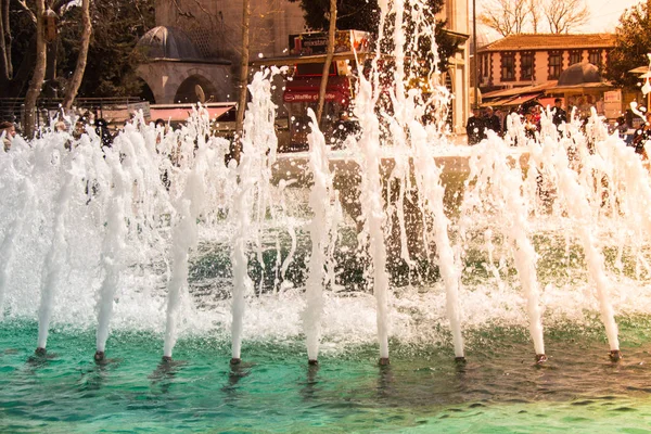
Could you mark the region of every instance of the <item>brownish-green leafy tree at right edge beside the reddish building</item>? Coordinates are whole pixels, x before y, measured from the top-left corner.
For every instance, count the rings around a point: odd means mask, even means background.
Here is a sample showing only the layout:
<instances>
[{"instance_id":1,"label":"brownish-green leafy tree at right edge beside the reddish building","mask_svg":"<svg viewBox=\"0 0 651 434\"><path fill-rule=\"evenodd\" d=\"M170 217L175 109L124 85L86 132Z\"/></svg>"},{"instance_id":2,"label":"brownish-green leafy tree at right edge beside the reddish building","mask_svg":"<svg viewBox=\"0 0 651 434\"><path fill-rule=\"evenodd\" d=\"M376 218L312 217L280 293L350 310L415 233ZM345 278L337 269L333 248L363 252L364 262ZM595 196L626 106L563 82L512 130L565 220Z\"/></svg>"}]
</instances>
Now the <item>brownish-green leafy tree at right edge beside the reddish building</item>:
<instances>
[{"instance_id":1,"label":"brownish-green leafy tree at right edge beside the reddish building","mask_svg":"<svg viewBox=\"0 0 651 434\"><path fill-rule=\"evenodd\" d=\"M651 21L647 4L639 3L624 12L615 33L615 48L609 54L607 77L616 85L636 89L640 79L629 71L649 64Z\"/></svg>"}]
</instances>

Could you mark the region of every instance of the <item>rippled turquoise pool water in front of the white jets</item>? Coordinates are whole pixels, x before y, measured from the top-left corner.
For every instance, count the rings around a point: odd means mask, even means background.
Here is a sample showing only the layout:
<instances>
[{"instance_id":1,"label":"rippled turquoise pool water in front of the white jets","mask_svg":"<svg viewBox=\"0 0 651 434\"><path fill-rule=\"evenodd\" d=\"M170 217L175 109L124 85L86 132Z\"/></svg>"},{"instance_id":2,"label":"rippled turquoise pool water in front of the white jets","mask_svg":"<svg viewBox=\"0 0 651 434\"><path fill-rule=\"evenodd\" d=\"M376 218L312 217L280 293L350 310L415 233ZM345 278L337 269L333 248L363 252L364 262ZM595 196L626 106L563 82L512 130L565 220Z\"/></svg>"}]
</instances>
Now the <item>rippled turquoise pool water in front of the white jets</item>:
<instances>
[{"instance_id":1,"label":"rippled turquoise pool water in front of the white jets","mask_svg":"<svg viewBox=\"0 0 651 434\"><path fill-rule=\"evenodd\" d=\"M108 362L92 361L94 334L53 330L34 357L37 323L0 328L0 432L541 433L651 432L647 317L620 319L624 360L612 363L598 324L547 333L549 362L533 363L526 331L470 332L468 363L451 348L392 343L306 363L302 341L180 340L161 363L163 336L117 332Z\"/></svg>"}]
</instances>

